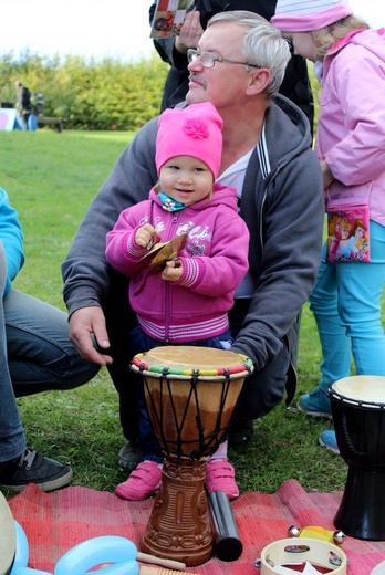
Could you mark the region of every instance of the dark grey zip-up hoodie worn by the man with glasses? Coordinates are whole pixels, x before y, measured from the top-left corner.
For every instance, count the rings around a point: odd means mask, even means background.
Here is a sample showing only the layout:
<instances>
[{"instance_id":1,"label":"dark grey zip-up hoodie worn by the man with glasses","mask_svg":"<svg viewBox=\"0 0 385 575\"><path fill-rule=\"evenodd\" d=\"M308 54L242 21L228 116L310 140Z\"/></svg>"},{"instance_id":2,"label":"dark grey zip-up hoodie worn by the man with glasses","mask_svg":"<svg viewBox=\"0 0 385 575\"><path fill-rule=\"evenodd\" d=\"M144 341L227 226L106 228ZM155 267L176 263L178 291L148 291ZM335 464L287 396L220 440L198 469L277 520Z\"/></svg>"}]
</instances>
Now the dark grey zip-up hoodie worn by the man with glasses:
<instances>
[{"instance_id":1,"label":"dark grey zip-up hoodie worn by the man with glasses","mask_svg":"<svg viewBox=\"0 0 385 575\"><path fill-rule=\"evenodd\" d=\"M104 255L105 234L121 211L146 199L157 181L156 126L157 118L138 132L85 213L62 266L70 314L90 305L104 307L107 301L111 269ZM288 342L295 344L296 318L320 265L323 187L310 145L306 117L278 96L267 109L241 199L256 291L232 349L253 360L257 384L258 372L274 362Z\"/></svg>"}]
</instances>

